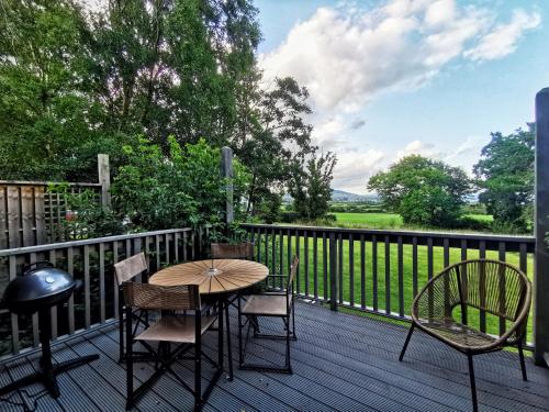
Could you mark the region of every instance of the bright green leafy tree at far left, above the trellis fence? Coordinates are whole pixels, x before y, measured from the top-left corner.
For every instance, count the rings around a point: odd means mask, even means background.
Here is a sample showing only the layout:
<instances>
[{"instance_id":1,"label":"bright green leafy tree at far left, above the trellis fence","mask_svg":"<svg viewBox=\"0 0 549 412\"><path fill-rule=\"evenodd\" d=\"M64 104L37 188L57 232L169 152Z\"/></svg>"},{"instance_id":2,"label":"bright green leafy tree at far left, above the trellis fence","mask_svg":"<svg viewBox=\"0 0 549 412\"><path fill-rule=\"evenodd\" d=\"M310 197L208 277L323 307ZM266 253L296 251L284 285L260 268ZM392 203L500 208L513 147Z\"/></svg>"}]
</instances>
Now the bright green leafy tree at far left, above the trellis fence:
<instances>
[{"instance_id":1,"label":"bright green leafy tree at far left, above the trellis fence","mask_svg":"<svg viewBox=\"0 0 549 412\"><path fill-rule=\"evenodd\" d=\"M81 10L67 0L3 0L0 33L2 178L78 174L77 147L97 141L101 114L89 94Z\"/></svg>"}]
</instances>

